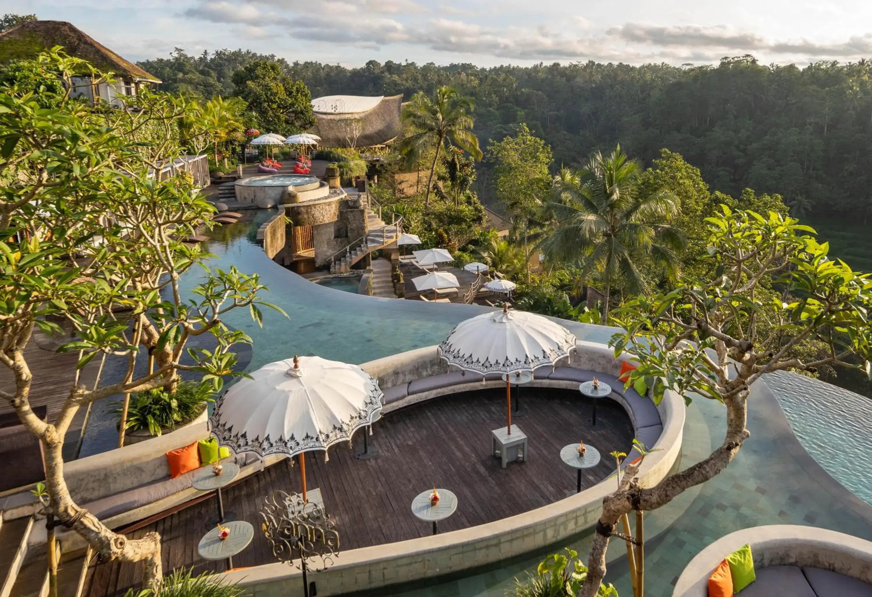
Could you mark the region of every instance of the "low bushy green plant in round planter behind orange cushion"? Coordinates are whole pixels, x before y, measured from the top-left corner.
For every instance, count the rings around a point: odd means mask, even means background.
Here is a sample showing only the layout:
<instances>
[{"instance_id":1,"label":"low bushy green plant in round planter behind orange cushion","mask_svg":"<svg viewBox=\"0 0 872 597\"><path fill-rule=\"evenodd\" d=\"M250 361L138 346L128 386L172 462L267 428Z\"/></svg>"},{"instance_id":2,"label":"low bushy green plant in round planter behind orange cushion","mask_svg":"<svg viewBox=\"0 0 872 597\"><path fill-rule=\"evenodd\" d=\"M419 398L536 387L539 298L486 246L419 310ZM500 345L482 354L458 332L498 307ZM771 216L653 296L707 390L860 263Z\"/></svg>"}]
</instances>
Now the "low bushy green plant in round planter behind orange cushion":
<instances>
[{"instance_id":1,"label":"low bushy green plant in round planter behind orange cushion","mask_svg":"<svg viewBox=\"0 0 872 597\"><path fill-rule=\"evenodd\" d=\"M174 393L164 388L155 388L133 394L127 410L126 431L147 429L152 435L160 435L162 429L173 429L190 423L199 417L206 402L213 402L212 387L206 383L181 382ZM112 412L121 422L123 401L116 403Z\"/></svg>"}]
</instances>

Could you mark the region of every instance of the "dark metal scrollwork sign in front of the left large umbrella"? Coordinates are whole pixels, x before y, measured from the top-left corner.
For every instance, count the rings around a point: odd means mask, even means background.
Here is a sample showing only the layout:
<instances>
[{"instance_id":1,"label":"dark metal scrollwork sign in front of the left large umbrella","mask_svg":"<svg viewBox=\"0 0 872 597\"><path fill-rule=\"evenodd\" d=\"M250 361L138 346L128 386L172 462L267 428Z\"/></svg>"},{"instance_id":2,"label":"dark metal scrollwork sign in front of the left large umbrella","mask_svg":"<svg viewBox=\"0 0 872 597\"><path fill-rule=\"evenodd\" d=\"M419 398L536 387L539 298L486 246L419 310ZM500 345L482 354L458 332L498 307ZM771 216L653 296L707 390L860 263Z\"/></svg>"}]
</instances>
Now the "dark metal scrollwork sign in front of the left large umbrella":
<instances>
[{"instance_id":1,"label":"dark metal scrollwork sign in front of the left large umbrella","mask_svg":"<svg viewBox=\"0 0 872 597\"><path fill-rule=\"evenodd\" d=\"M339 555L339 533L324 507L303 502L299 493L276 490L263 499L263 534L273 555L303 571L321 572ZM305 582L305 580L303 581Z\"/></svg>"}]
</instances>

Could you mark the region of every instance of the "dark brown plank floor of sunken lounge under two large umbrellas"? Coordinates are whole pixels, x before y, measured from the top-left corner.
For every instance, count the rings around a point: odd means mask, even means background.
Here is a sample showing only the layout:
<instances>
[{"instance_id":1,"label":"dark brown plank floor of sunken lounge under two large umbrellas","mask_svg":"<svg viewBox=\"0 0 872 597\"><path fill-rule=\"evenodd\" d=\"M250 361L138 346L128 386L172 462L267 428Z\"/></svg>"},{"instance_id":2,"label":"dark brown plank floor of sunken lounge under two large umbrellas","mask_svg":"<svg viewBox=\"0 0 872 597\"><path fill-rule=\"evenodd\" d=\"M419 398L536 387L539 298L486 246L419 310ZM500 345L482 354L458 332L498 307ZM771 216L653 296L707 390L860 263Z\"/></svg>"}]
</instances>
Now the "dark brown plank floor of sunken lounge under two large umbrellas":
<instances>
[{"instance_id":1,"label":"dark brown plank floor of sunken lounge under two large umbrellas","mask_svg":"<svg viewBox=\"0 0 872 597\"><path fill-rule=\"evenodd\" d=\"M514 393L514 392L513 392ZM566 498L576 488L576 471L564 465L561 448L583 438L603 453L603 461L582 471L585 487L610 475L610 451L630 451L633 431L623 409L610 400L599 404L596 427L591 405L578 392L521 389L522 417L513 417L529 438L529 462L502 469L489 454L490 431L505 425L504 390L481 390L435 398L385 415L374 425L370 446L378 458L358 460L362 438L353 450L341 445L306 458L310 490L319 487L327 512L337 523L343 550L373 546L431 533L428 523L412 516L412 499L433 485L458 496L457 512L439 523L440 532L476 526L527 512ZM234 557L235 566L275 561L259 530L258 509L273 490L300 490L299 468L284 460L224 490L227 512L255 526L251 545ZM195 573L223 570L223 562L201 560L197 543L215 513L208 499L133 531L157 531L163 537L164 571L193 566ZM103 563L92 566L86 594L122 595L140 583L141 567Z\"/></svg>"}]
</instances>

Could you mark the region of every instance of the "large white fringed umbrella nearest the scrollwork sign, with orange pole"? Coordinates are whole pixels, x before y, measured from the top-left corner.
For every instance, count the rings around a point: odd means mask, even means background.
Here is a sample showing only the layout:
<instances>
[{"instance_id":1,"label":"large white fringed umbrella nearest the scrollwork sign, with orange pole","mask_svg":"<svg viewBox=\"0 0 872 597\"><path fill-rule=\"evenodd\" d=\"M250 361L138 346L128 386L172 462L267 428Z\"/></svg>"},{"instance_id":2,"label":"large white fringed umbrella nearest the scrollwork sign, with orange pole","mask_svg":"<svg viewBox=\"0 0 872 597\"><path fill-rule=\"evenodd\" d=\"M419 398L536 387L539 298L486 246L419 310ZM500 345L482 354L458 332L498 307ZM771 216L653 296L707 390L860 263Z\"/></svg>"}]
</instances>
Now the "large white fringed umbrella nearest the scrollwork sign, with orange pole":
<instances>
[{"instance_id":1,"label":"large white fringed umbrella nearest the scrollwork sign, with orange pole","mask_svg":"<svg viewBox=\"0 0 872 597\"><path fill-rule=\"evenodd\" d=\"M305 452L351 441L378 419L383 397L375 378L357 365L295 356L235 383L215 403L209 423L218 443L236 453L299 454L306 501Z\"/></svg>"}]
</instances>

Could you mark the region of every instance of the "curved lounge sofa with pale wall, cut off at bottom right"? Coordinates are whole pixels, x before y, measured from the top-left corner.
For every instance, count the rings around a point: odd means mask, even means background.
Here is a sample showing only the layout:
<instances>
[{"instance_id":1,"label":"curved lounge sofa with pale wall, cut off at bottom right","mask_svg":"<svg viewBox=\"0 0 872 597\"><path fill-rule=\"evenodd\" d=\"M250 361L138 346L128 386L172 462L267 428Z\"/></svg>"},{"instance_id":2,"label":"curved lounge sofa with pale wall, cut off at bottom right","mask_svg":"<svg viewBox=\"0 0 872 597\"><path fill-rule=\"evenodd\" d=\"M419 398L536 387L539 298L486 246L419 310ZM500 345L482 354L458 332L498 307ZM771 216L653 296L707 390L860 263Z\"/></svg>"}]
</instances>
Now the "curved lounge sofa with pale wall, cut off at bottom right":
<instances>
[{"instance_id":1,"label":"curved lounge sofa with pale wall, cut off at bottom right","mask_svg":"<svg viewBox=\"0 0 872 597\"><path fill-rule=\"evenodd\" d=\"M751 545L757 580L743 597L869 597L872 542L814 526L754 526L718 539L678 577L672 597L706 597L728 554Z\"/></svg>"}]
</instances>

